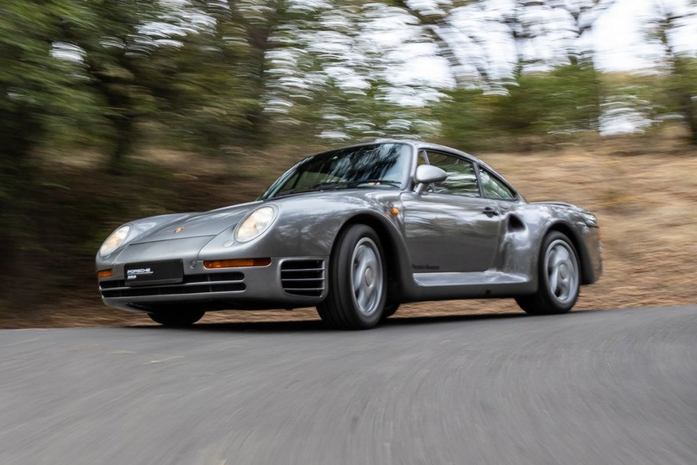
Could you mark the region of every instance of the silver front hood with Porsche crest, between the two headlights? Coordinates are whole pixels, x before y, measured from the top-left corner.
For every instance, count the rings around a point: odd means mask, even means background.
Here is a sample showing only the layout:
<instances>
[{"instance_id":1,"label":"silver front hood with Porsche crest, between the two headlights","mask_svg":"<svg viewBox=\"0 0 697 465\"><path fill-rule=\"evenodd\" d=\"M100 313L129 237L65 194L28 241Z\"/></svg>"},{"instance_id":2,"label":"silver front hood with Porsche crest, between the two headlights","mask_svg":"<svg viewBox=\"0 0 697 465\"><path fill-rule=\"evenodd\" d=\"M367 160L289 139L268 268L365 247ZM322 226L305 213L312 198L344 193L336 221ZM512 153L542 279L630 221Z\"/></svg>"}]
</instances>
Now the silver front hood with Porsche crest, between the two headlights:
<instances>
[{"instance_id":1,"label":"silver front hood with Porsche crest, between the two headlights","mask_svg":"<svg viewBox=\"0 0 697 465\"><path fill-rule=\"evenodd\" d=\"M226 229L235 228L245 214L260 204L261 202L250 202L210 210L210 212L187 214L176 221L149 230L136 239L133 244L184 239L186 237L215 236Z\"/></svg>"}]
</instances>

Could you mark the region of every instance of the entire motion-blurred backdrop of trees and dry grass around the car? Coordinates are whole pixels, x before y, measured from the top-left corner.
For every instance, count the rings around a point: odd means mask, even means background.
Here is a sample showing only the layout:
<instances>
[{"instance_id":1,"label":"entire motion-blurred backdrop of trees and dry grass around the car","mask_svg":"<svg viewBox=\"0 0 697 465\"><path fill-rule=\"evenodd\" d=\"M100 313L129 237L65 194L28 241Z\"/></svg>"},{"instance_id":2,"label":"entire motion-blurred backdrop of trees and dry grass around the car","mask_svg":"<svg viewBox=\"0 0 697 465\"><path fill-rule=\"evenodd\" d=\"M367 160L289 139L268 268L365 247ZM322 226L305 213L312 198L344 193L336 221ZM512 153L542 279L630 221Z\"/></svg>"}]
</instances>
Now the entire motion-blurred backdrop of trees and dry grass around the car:
<instances>
[{"instance_id":1,"label":"entire motion-blurred backdrop of trees and dry grass around the car","mask_svg":"<svg viewBox=\"0 0 697 465\"><path fill-rule=\"evenodd\" d=\"M694 303L696 49L692 0L3 0L0 326L128 318L95 285L116 226L388 136L597 212L580 308ZM436 310L484 307L514 308Z\"/></svg>"}]
</instances>

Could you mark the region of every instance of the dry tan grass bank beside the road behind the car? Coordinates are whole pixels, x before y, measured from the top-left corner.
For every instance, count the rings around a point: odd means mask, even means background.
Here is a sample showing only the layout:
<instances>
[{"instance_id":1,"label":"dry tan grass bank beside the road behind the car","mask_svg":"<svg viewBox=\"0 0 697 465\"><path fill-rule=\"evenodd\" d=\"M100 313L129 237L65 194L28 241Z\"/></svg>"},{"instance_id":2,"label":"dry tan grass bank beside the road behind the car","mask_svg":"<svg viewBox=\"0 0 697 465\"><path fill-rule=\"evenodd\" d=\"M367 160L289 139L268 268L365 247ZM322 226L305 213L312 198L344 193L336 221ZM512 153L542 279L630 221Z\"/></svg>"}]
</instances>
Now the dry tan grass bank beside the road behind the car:
<instances>
[{"instance_id":1,"label":"dry tan grass bank beside the road behind the car","mask_svg":"<svg viewBox=\"0 0 697 465\"><path fill-rule=\"evenodd\" d=\"M171 154L163 158L176 160ZM604 274L595 285L582 288L577 309L697 303L695 148L685 147L677 139L647 137L604 141L602 145L565 145L526 155L485 154L482 159L530 201L564 200L599 217ZM263 166L252 163L237 168L265 180L282 171L282 166ZM404 305L395 317L508 311L519 311L512 299L443 301ZM151 324L147 317L110 310L96 300L62 302L25 316L0 322L0 326ZM302 309L210 313L202 321L316 318L314 309Z\"/></svg>"}]
</instances>

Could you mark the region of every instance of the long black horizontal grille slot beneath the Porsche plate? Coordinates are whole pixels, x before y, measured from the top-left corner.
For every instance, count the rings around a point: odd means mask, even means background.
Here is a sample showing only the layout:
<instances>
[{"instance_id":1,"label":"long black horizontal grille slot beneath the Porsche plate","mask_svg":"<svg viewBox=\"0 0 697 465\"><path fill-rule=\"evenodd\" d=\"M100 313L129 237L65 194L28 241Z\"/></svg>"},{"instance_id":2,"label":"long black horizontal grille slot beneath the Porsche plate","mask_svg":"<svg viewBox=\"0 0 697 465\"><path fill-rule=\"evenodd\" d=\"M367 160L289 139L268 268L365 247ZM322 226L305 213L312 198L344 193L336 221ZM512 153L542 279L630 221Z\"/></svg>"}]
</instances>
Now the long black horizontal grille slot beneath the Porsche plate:
<instances>
[{"instance_id":1,"label":"long black horizontal grille slot beneath the Porsche plate","mask_svg":"<svg viewBox=\"0 0 697 465\"><path fill-rule=\"evenodd\" d=\"M101 281L99 283L102 297L148 297L155 295L204 294L206 292L242 292L247 288L245 274L208 273L184 276L184 281L177 284L128 287L123 279Z\"/></svg>"}]
</instances>

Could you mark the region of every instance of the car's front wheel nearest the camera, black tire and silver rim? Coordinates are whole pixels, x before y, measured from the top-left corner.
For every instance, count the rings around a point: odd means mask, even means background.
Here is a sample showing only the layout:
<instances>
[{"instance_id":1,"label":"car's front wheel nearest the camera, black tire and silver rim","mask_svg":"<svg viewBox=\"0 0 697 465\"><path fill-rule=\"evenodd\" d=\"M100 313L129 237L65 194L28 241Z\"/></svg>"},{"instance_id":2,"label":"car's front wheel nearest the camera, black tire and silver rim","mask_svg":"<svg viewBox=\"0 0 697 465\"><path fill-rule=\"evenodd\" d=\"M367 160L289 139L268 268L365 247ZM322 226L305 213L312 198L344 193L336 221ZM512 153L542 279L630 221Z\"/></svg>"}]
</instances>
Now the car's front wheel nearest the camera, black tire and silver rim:
<instances>
[{"instance_id":1,"label":"car's front wheel nearest the camera, black tire and silver rim","mask_svg":"<svg viewBox=\"0 0 697 465\"><path fill-rule=\"evenodd\" d=\"M369 329L378 324L387 294L384 264L380 238L372 228L362 224L346 228L330 258L329 292L317 306L321 319L340 329Z\"/></svg>"}]
</instances>

